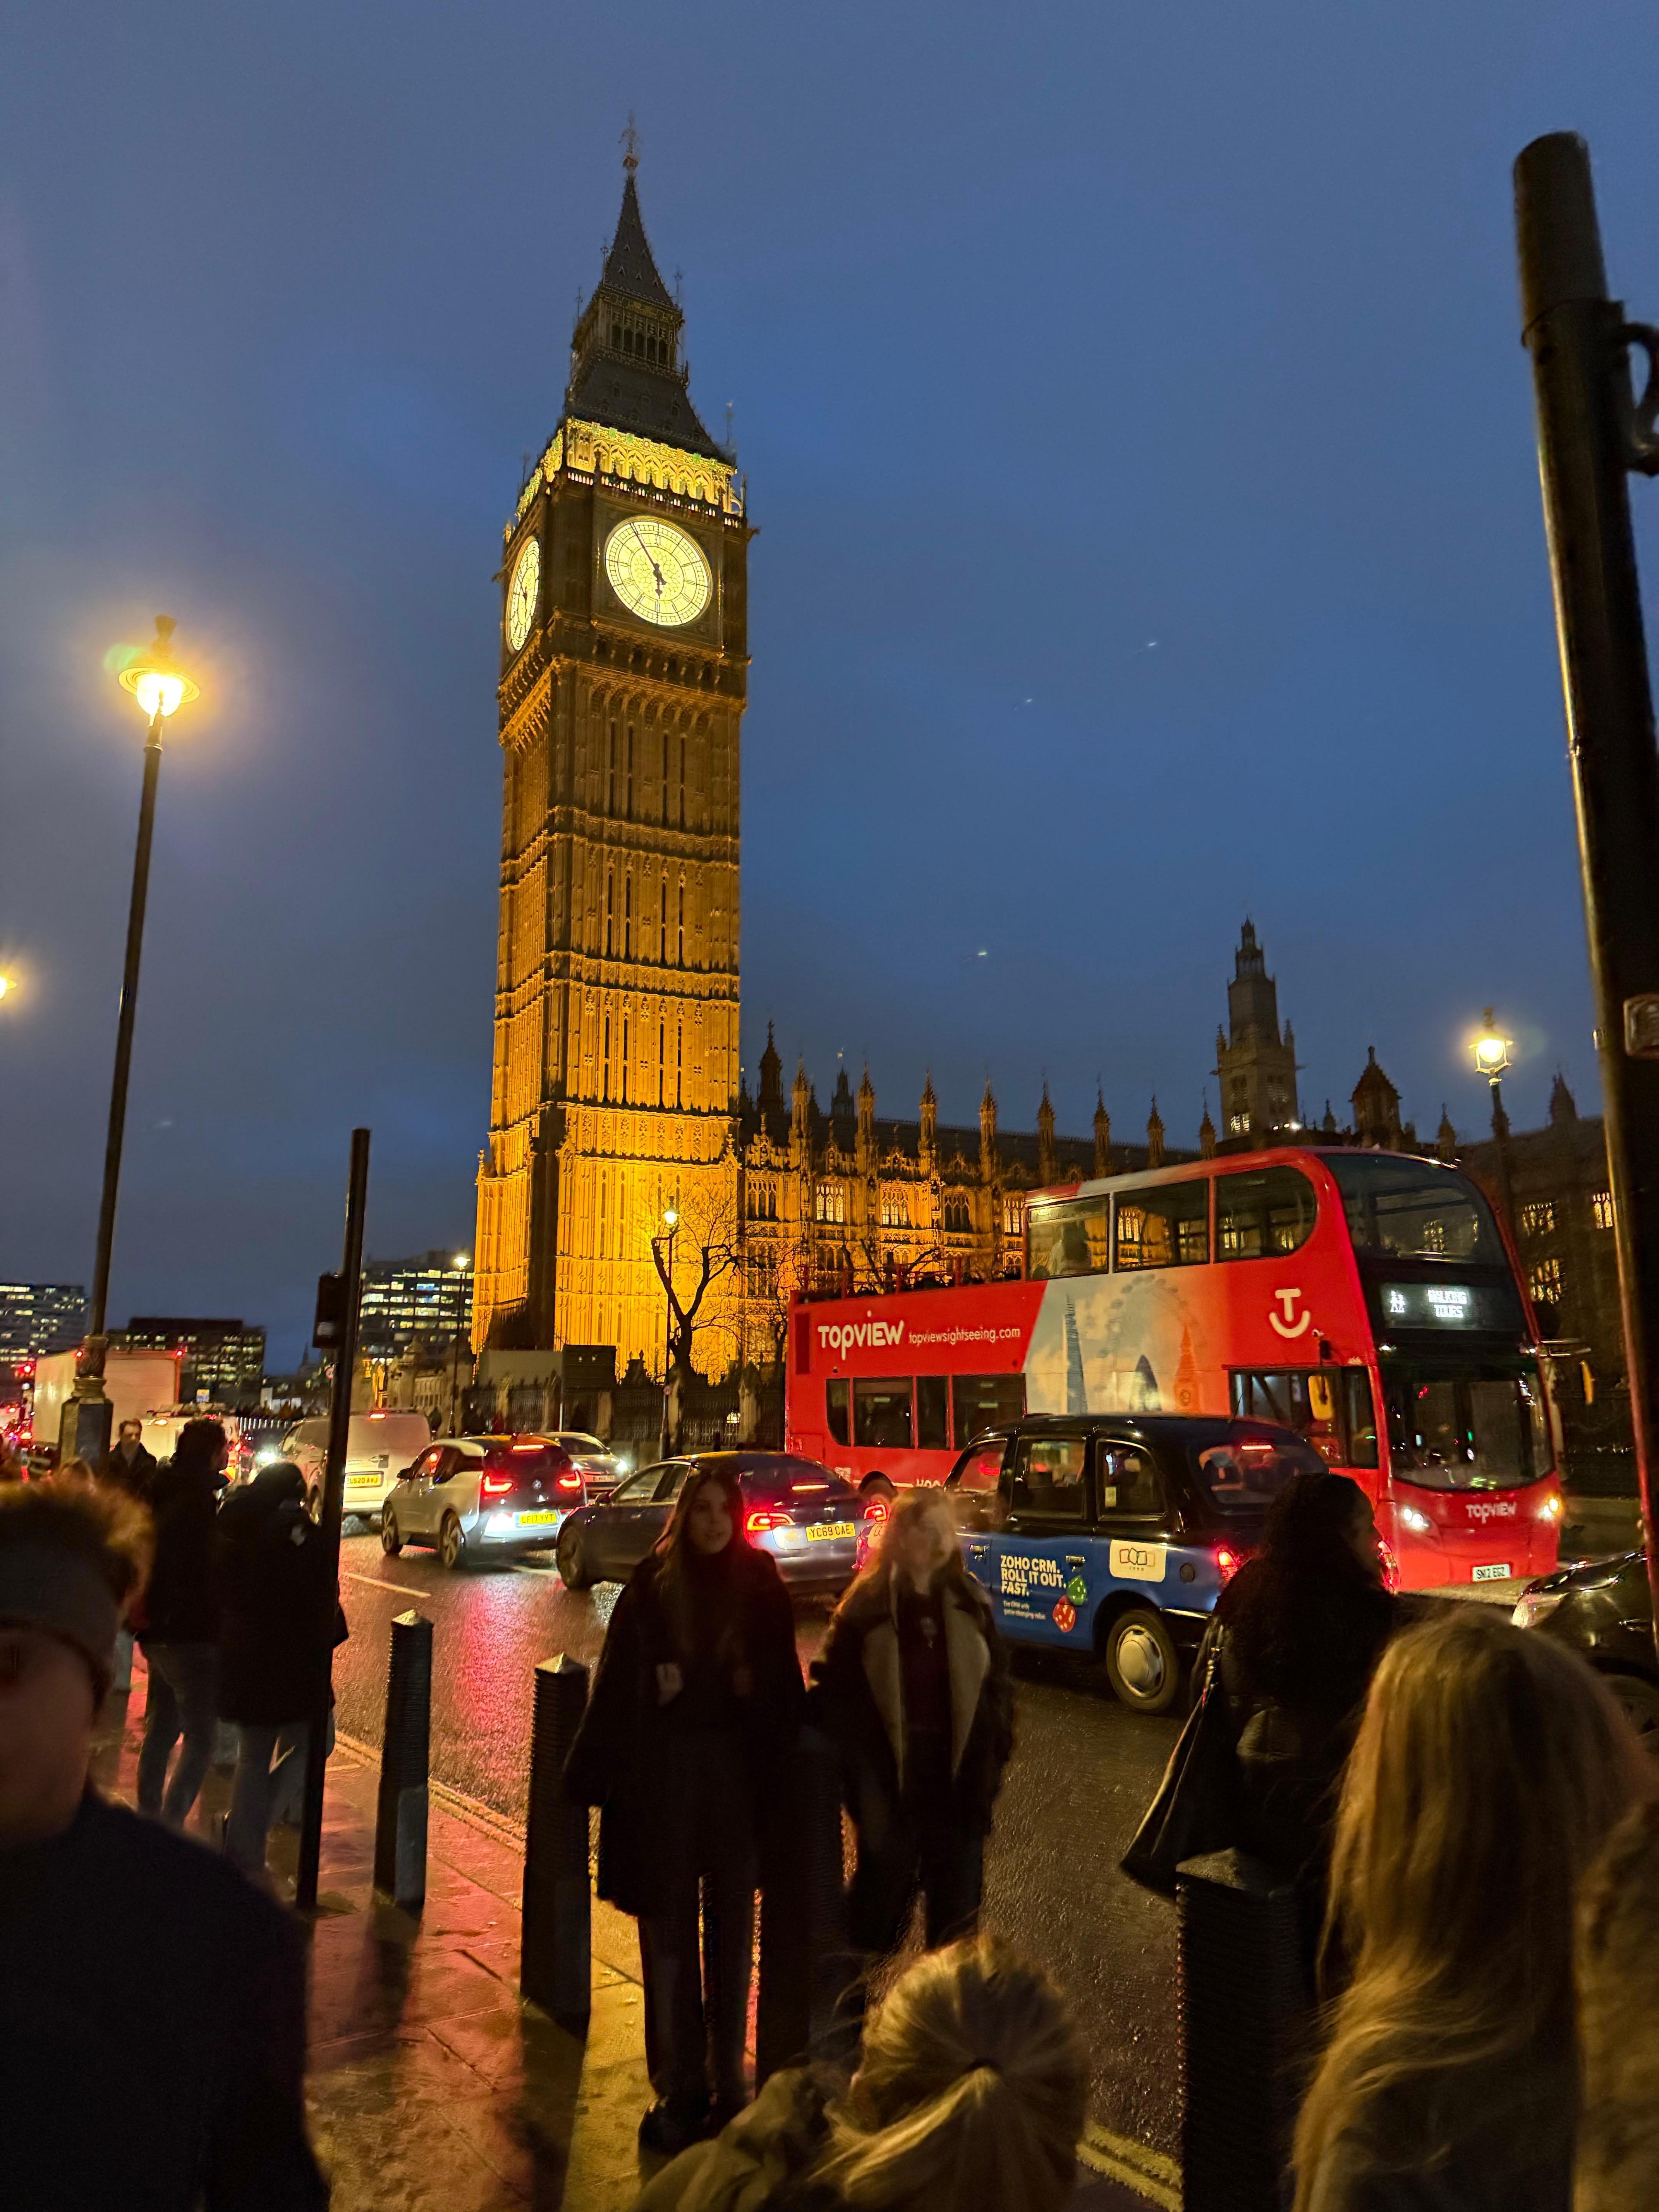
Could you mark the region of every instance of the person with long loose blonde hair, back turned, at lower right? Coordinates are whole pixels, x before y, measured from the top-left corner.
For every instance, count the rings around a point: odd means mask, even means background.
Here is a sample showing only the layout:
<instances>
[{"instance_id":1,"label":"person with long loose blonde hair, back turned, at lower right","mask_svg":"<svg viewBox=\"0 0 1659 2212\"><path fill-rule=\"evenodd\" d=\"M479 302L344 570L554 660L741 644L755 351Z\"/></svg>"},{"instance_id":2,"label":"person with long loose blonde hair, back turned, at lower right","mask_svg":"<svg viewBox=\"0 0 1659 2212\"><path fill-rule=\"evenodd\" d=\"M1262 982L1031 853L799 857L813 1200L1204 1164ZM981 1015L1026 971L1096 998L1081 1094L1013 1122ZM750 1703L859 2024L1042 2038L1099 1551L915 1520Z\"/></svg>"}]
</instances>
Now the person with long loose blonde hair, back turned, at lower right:
<instances>
[{"instance_id":1,"label":"person with long loose blonde hair, back turned, at lower right","mask_svg":"<svg viewBox=\"0 0 1659 2212\"><path fill-rule=\"evenodd\" d=\"M1343 1778L1352 1971L1296 2124L1294 2212L1566 2212L1577 1885L1650 1787L1590 1668L1484 1606L1398 1635Z\"/></svg>"}]
</instances>

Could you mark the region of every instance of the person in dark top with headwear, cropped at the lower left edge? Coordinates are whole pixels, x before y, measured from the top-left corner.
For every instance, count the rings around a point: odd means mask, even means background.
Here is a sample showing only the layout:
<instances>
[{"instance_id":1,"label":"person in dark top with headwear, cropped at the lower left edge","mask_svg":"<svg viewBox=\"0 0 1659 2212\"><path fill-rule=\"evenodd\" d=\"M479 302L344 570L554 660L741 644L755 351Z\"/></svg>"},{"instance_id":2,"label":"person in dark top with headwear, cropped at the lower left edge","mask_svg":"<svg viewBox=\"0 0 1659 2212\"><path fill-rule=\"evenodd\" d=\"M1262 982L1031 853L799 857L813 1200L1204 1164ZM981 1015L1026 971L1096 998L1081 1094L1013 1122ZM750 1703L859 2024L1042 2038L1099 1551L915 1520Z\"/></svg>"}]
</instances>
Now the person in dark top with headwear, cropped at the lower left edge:
<instances>
[{"instance_id":1,"label":"person in dark top with headwear, cropped at the lower left edge","mask_svg":"<svg viewBox=\"0 0 1659 2212\"><path fill-rule=\"evenodd\" d=\"M299 1929L88 1781L146 1568L108 1484L0 1489L0 2199L314 2212Z\"/></svg>"}]
</instances>

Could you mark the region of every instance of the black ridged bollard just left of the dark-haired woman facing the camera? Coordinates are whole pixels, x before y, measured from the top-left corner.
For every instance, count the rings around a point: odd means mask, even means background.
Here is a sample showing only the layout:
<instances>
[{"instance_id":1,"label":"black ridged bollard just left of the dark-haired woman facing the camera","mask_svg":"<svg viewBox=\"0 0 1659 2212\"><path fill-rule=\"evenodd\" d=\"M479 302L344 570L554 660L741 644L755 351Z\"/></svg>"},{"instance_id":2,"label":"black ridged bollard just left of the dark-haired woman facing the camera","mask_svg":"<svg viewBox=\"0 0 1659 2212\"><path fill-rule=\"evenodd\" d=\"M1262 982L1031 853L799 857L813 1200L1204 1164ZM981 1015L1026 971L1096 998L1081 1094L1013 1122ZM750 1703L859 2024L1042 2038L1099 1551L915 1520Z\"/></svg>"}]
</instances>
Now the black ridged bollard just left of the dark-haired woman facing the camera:
<instances>
[{"instance_id":1,"label":"black ridged bollard just left of the dark-haired woman facing the camera","mask_svg":"<svg viewBox=\"0 0 1659 2212\"><path fill-rule=\"evenodd\" d=\"M586 2028L593 1978L588 1807L564 1796L564 1761L588 1703L588 1670L566 1652L535 1668L531 1816L518 1986L571 2028Z\"/></svg>"}]
</instances>

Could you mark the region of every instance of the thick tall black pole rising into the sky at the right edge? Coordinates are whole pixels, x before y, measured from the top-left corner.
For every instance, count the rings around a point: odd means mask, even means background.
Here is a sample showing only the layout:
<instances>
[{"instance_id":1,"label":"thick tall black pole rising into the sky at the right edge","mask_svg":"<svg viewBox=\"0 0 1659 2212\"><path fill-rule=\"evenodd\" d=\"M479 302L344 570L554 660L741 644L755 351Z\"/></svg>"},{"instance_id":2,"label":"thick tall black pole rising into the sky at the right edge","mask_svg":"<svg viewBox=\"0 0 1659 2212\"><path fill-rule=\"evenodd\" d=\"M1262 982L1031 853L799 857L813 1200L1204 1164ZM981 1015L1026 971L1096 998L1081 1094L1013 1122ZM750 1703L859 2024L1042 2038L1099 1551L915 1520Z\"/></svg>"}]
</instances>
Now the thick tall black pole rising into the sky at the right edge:
<instances>
[{"instance_id":1,"label":"thick tall black pole rising into the sky at the right edge","mask_svg":"<svg viewBox=\"0 0 1659 2212\"><path fill-rule=\"evenodd\" d=\"M1648 462L1637 460L1626 316L1608 299L1582 137L1559 131L1520 155L1515 232L1590 938L1630 1425L1659 1619L1659 752L1626 487L1630 467Z\"/></svg>"}]
</instances>

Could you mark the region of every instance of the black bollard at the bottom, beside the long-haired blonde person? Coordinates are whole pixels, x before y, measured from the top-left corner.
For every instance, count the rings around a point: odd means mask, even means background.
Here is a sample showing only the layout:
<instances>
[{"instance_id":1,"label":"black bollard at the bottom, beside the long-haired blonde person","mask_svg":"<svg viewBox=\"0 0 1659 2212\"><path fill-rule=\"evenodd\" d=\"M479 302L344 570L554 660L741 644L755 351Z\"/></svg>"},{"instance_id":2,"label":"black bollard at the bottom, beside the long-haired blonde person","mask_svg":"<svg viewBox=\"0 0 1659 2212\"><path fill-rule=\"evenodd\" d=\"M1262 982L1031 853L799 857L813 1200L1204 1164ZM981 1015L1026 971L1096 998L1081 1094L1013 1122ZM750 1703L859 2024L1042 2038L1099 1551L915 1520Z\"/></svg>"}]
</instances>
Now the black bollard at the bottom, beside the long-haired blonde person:
<instances>
[{"instance_id":1,"label":"black bollard at the bottom, beside the long-haired blonde person","mask_svg":"<svg viewBox=\"0 0 1659 2212\"><path fill-rule=\"evenodd\" d=\"M1279 2212L1307 2028L1296 1891L1243 1851L1177 1867L1186 2212Z\"/></svg>"}]
</instances>

